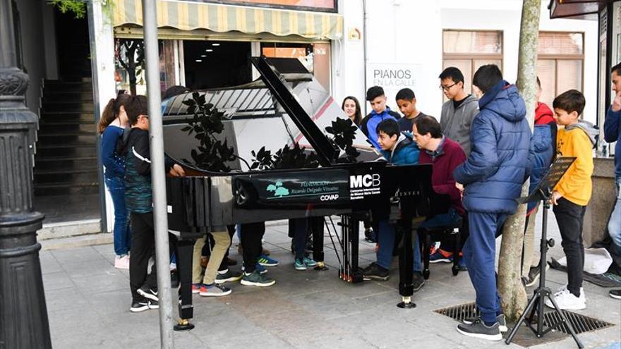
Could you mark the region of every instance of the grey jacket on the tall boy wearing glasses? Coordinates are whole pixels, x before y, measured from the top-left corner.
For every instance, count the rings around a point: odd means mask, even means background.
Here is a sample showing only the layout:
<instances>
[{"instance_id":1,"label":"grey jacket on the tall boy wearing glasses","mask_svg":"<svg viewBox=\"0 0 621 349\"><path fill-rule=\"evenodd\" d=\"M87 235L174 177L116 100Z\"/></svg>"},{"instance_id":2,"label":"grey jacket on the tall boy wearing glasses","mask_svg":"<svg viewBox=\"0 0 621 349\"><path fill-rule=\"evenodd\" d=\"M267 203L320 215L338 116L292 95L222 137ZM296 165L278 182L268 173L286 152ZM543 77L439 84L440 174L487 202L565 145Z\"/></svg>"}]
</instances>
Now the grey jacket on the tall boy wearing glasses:
<instances>
[{"instance_id":1,"label":"grey jacket on the tall boy wearing glasses","mask_svg":"<svg viewBox=\"0 0 621 349\"><path fill-rule=\"evenodd\" d=\"M473 95L466 97L464 102L455 109L453 101L442 104L440 114L440 127L442 134L459 143L466 153L470 155L470 128L474 116L478 113L478 100Z\"/></svg>"}]
</instances>

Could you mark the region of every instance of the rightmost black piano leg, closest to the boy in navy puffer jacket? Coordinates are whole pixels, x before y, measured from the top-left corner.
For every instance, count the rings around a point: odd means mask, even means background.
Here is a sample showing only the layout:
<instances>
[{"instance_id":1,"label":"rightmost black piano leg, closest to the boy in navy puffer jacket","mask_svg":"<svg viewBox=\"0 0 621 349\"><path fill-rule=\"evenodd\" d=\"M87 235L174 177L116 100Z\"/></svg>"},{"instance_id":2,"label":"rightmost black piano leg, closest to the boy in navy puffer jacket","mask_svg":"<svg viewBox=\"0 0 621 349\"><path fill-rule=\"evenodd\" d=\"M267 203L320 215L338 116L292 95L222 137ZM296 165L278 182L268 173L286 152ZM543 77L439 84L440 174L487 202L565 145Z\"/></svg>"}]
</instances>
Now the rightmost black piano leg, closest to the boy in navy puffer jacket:
<instances>
[{"instance_id":1,"label":"rightmost black piano leg, closest to the boy in navy puffer jacket","mask_svg":"<svg viewBox=\"0 0 621 349\"><path fill-rule=\"evenodd\" d=\"M412 254L413 231L411 217L403 217L399 221L399 226L403 231L403 247L399 253L399 295L402 297L402 302L399 302L397 307L411 309L416 307L416 304L411 301L414 294L414 283L412 282L414 256Z\"/></svg>"}]
</instances>

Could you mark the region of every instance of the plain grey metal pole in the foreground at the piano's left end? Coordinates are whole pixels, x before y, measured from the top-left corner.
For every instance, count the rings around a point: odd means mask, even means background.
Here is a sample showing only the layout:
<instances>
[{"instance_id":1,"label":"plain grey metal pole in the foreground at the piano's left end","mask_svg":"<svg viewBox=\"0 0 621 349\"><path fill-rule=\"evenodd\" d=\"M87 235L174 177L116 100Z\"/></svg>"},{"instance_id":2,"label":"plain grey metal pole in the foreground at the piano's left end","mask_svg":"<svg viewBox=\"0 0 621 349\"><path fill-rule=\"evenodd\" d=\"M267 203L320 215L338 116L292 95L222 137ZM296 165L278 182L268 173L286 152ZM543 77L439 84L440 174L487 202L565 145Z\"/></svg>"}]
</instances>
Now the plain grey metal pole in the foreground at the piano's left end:
<instances>
[{"instance_id":1,"label":"plain grey metal pole in the foreground at the piano's left end","mask_svg":"<svg viewBox=\"0 0 621 349\"><path fill-rule=\"evenodd\" d=\"M151 187L153 221L155 224L155 262L159 297L159 340L164 349L174 348L170 257L168 250L168 217L164 173L164 138L162 137L162 96L159 91L159 55L157 47L157 16L155 0L143 0L145 63L147 64L147 95L149 97L149 134L151 148Z\"/></svg>"}]
</instances>

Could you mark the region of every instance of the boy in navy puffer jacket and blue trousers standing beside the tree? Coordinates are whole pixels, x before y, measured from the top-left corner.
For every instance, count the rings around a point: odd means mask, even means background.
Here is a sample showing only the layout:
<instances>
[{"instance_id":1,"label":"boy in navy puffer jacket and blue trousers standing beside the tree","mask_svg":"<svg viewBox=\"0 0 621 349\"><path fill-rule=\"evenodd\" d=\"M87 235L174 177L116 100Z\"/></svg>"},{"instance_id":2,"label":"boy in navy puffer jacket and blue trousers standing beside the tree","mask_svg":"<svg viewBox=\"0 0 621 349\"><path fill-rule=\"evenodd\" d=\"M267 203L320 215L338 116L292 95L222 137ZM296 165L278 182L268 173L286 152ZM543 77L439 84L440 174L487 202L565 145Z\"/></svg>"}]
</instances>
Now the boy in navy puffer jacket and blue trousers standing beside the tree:
<instances>
[{"instance_id":1,"label":"boy in navy puffer jacket and blue trousers standing beside the tree","mask_svg":"<svg viewBox=\"0 0 621 349\"><path fill-rule=\"evenodd\" d=\"M496 289L496 232L517 209L515 200L529 167L531 129L524 100L517 87L502 80L498 66L478 68L472 84L483 96L470 128L470 155L454 170L453 177L458 187L465 188L470 236L463 249L464 262L481 317L467 319L457 331L500 341L500 331L507 328Z\"/></svg>"}]
</instances>

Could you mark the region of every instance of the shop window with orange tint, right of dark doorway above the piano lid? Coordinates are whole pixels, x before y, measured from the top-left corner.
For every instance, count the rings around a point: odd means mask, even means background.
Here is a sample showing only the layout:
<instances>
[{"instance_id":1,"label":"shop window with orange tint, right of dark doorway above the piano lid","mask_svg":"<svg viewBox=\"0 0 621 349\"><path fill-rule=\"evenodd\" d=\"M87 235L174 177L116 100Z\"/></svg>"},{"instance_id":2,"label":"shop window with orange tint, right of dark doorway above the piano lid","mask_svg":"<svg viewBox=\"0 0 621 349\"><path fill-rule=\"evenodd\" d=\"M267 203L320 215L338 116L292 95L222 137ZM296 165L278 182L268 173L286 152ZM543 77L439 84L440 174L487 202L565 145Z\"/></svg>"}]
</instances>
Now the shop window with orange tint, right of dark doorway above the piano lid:
<instances>
[{"instance_id":1,"label":"shop window with orange tint, right of dark doorway above the piano lid","mask_svg":"<svg viewBox=\"0 0 621 349\"><path fill-rule=\"evenodd\" d=\"M265 42L261 44L261 54L266 57L296 58L313 73L315 79L330 92L330 44L293 44L284 42Z\"/></svg>"}]
</instances>

